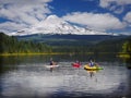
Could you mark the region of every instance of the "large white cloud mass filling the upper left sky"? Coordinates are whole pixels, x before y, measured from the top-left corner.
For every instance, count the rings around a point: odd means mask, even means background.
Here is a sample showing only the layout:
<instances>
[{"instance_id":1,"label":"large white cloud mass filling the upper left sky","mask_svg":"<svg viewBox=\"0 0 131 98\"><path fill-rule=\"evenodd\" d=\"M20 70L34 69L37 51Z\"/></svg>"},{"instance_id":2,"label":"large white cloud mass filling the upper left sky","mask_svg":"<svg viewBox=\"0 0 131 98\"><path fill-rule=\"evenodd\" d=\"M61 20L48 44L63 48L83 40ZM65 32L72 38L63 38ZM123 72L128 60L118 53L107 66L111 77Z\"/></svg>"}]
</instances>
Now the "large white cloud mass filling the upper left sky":
<instances>
[{"instance_id":1,"label":"large white cloud mass filling the upper left sky","mask_svg":"<svg viewBox=\"0 0 131 98\"><path fill-rule=\"evenodd\" d=\"M46 17L46 13L51 13L48 2L52 0L0 0L0 17L10 20L14 24L32 26ZM1 29L5 28L7 23L1 24ZM10 27L9 27L10 28ZM12 29L20 29L14 26Z\"/></svg>"}]
</instances>

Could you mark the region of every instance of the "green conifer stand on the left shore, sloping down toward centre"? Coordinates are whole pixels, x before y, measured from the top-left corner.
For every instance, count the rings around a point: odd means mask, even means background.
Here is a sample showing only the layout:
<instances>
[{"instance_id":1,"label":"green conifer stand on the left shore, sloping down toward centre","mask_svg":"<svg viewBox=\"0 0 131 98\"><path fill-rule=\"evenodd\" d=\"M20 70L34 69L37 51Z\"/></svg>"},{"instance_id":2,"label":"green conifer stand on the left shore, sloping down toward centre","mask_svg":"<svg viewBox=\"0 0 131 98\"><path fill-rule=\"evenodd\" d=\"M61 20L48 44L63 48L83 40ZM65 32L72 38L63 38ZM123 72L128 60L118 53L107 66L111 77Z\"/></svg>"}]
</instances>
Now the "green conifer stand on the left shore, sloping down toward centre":
<instances>
[{"instance_id":1,"label":"green conifer stand on the left shore, sloping down toward centre","mask_svg":"<svg viewBox=\"0 0 131 98\"><path fill-rule=\"evenodd\" d=\"M51 52L51 47L44 42L17 40L13 36L0 33L0 53L38 53Z\"/></svg>"}]
</instances>

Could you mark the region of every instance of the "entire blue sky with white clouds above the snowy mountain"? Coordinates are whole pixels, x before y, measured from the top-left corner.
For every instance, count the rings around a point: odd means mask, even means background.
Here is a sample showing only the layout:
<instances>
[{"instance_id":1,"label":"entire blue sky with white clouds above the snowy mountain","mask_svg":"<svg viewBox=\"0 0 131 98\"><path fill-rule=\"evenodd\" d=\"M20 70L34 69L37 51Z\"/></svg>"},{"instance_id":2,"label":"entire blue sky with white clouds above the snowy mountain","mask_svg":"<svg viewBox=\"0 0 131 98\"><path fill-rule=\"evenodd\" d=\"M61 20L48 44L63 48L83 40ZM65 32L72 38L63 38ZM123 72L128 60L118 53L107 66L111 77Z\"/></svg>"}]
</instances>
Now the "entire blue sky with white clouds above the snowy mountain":
<instances>
[{"instance_id":1,"label":"entire blue sky with white clouds above the snowy mountain","mask_svg":"<svg viewBox=\"0 0 131 98\"><path fill-rule=\"evenodd\" d=\"M131 34L131 0L0 0L0 32L29 28L52 14L95 30Z\"/></svg>"}]
</instances>

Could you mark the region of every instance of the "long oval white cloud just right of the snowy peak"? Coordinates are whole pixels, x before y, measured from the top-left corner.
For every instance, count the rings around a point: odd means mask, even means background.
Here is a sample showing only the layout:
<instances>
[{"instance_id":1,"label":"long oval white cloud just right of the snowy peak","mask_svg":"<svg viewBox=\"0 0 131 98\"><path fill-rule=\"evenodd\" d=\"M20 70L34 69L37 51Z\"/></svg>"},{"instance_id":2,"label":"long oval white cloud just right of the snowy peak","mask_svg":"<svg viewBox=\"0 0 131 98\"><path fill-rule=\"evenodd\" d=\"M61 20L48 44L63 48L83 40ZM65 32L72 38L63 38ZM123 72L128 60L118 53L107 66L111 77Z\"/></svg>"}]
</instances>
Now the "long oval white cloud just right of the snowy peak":
<instances>
[{"instance_id":1,"label":"long oval white cloud just right of the snowy peak","mask_svg":"<svg viewBox=\"0 0 131 98\"><path fill-rule=\"evenodd\" d=\"M94 14L94 13L81 13L75 12L63 16L64 20L86 25L94 29L107 30L107 29L119 29L126 26L124 23L120 22L114 15L106 14Z\"/></svg>"}]
</instances>

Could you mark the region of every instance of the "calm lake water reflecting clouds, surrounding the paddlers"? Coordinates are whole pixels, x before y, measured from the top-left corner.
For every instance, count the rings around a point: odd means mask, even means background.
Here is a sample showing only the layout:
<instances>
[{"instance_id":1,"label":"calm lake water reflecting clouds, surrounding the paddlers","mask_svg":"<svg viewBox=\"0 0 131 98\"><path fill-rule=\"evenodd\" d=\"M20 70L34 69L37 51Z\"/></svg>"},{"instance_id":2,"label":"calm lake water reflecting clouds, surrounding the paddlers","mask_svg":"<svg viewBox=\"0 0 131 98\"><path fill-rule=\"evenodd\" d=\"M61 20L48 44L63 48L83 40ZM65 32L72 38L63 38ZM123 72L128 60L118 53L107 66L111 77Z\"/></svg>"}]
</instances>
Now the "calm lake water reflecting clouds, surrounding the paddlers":
<instances>
[{"instance_id":1,"label":"calm lake water reflecting clouds, surrounding the paddlers","mask_svg":"<svg viewBox=\"0 0 131 98\"><path fill-rule=\"evenodd\" d=\"M52 58L59 68L46 68ZM72 68L75 60L82 66ZM95 58L104 68L83 69L88 56L26 56L0 58L0 98L131 98L131 70L115 57Z\"/></svg>"}]
</instances>

